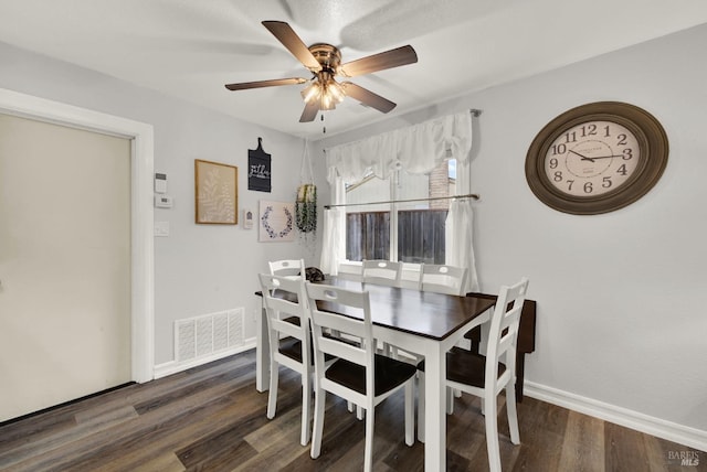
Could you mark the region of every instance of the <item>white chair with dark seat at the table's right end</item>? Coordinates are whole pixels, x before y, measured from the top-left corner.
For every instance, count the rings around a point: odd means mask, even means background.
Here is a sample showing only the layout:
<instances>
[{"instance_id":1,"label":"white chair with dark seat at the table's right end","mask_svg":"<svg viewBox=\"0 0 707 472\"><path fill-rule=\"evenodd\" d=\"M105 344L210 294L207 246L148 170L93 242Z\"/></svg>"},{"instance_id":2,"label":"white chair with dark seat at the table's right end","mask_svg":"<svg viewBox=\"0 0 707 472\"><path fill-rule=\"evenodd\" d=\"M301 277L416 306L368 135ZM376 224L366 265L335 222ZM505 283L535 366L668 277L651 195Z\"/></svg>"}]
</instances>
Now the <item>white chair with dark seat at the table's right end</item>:
<instances>
[{"instance_id":1,"label":"white chair with dark seat at the table's right end","mask_svg":"<svg viewBox=\"0 0 707 472\"><path fill-rule=\"evenodd\" d=\"M494 472L500 471L497 396L504 389L510 442L520 443L516 408L516 343L527 290L528 279L525 277L516 285L500 288L489 321L486 355L462 347L453 347L446 354L446 386L482 399L488 463ZM418 439L424 442L424 361L418 368Z\"/></svg>"}]
</instances>

